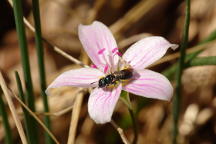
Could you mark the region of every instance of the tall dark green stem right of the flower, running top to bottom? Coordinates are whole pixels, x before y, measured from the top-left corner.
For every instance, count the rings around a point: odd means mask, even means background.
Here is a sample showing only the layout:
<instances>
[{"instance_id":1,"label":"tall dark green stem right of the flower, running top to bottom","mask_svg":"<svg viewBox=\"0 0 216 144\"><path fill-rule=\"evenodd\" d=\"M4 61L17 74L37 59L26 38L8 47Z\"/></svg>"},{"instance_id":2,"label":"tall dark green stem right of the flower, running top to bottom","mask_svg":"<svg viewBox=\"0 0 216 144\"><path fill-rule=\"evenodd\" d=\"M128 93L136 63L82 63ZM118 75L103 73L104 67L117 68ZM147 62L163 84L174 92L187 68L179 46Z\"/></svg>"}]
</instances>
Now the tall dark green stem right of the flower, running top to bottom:
<instances>
[{"instance_id":1,"label":"tall dark green stem right of the flower, running top to bottom","mask_svg":"<svg viewBox=\"0 0 216 144\"><path fill-rule=\"evenodd\" d=\"M174 97L173 100L173 139L172 139L173 144L177 143L178 120L179 120L180 105L181 105L181 76L184 69L185 54L186 54L185 49L188 45L188 33L189 33L189 25L190 25L190 0L185 0L185 2L186 2L186 17L185 17L183 36L182 36L182 43L180 47L179 65L178 65L177 75L176 75L176 96Z\"/></svg>"}]
</instances>

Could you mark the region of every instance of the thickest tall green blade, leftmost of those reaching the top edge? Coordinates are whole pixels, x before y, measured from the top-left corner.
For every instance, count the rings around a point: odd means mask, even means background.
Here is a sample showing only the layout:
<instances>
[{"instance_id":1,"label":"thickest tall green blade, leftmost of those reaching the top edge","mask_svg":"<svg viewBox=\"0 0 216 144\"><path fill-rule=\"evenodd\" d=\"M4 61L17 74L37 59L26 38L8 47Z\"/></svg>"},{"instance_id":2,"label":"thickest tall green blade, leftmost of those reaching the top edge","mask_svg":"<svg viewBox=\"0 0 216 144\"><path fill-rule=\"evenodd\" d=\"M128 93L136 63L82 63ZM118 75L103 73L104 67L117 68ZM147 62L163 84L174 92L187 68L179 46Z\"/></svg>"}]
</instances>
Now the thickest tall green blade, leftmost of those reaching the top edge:
<instances>
[{"instance_id":1,"label":"thickest tall green blade, leftmost of those reaching the top edge","mask_svg":"<svg viewBox=\"0 0 216 144\"><path fill-rule=\"evenodd\" d=\"M19 47L21 52L21 60L22 60L22 67L24 73L24 80L25 80L25 87L26 87L26 103L32 111L35 111L35 103L34 103L34 93L33 93L33 85L31 79L31 71L30 71L30 64L29 64L29 57L28 57L28 49L27 49L27 41L25 36L25 28L23 23L23 12L22 12L22 1L20 0L13 0L13 10L15 16L15 23L16 23L16 30L18 34L19 40ZM31 125L29 127L30 130L30 144L37 144L38 143L38 136L37 136L37 125L36 121L29 115Z\"/></svg>"}]
</instances>

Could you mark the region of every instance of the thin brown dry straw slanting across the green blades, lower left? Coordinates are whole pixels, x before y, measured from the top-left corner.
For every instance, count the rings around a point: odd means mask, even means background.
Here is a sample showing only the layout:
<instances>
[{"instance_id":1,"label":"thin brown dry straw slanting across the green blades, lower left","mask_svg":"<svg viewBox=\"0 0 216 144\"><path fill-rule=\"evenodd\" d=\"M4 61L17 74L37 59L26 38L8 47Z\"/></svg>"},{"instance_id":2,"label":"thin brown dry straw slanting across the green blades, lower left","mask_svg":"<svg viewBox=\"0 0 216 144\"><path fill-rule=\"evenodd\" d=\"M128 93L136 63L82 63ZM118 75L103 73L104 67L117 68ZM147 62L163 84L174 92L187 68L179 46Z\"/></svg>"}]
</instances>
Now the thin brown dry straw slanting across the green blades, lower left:
<instances>
[{"instance_id":1,"label":"thin brown dry straw slanting across the green blades, lower left","mask_svg":"<svg viewBox=\"0 0 216 144\"><path fill-rule=\"evenodd\" d=\"M29 112L31 116L35 118L35 120L43 127L43 129L50 135L50 137L55 141L56 144L60 144L58 140L55 138L55 136L50 132L50 130L44 125L44 123L32 112L28 106L26 106L19 98L16 96L16 94L12 91L14 97L16 100Z\"/></svg>"}]
</instances>

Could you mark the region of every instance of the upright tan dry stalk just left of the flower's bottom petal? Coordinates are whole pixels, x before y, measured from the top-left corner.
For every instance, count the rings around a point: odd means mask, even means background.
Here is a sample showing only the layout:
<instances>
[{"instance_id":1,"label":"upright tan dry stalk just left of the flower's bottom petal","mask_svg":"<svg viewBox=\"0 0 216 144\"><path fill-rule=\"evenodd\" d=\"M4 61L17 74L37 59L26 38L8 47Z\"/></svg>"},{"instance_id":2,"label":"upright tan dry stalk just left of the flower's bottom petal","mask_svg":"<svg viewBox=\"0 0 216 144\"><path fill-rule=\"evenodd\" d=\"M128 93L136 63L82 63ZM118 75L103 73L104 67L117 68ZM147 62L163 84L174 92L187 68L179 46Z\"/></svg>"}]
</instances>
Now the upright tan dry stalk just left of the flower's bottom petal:
<instances>
[{"instance_id":1,"label":"upright tan dry stalk just left of the flower's bottom petal","mask_svg":"<svg viewBox=\"0 0 216 144\"><path fill-rule=\"evenodd\" d=\"M79 120L79 114L80 114L80 109L81 109L81 105L83 101L83 96L84 95L82 91L79 91L76 97L76 100L75 100L74 109L71 114L70 130L69 130L69 137L68 137L67 144L75 143L74 141L75 141L75 136L76 136L76 129L77 129L77 124Z\"/></svg>"}]
</instances>

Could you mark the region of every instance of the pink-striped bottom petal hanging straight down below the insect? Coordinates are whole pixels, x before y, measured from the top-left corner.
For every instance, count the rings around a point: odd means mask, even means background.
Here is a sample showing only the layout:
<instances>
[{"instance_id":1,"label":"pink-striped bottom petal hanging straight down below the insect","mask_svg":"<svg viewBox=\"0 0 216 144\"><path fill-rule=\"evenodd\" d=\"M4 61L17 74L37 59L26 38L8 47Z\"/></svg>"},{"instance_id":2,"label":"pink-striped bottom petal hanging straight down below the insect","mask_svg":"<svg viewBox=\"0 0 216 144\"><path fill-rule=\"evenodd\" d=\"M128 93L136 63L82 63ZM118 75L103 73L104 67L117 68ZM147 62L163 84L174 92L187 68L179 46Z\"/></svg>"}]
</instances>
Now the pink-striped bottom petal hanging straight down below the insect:
<instances>
[{"instance_id":1,"label":"pink-striped bottom petal hanging straight down below the insect","mask_svg":"<svg viewBox=\"0 0 216 144\"><path fill-rule=\"evenodd\" d=\"M115 105L119 99L122 86L117 88L95 88L88 101L88 112L96 123L111 121Z\"/></svg>"}]
</instances>

